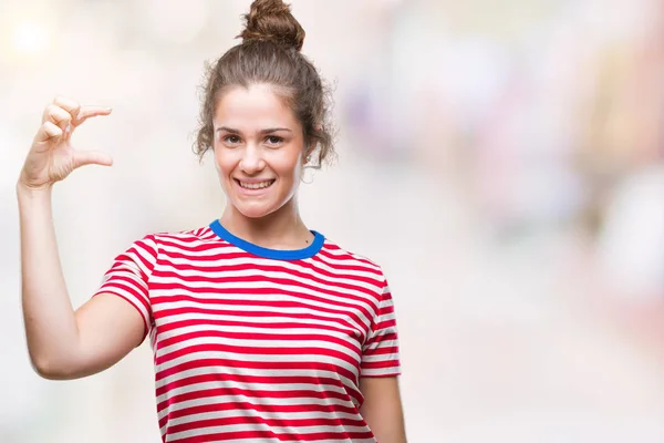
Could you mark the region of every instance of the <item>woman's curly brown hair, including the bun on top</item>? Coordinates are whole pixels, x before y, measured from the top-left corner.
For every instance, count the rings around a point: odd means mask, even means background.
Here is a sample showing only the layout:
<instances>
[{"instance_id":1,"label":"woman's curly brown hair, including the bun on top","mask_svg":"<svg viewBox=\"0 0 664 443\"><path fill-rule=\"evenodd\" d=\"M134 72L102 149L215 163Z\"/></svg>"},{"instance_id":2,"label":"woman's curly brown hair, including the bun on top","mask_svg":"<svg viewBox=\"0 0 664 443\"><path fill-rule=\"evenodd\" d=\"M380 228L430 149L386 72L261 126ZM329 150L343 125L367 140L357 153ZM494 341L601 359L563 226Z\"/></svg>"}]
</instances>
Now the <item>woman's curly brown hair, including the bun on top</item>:
<instances>
[{"instance_id":1,"label":"woman's curly brown hair, including the bun on top","mask_svg":"<svg viewBox=\"0 0 664 443\"><path fill-rule=\"evenodd\" d=\"M230 87L267 83L302 124L305 165L320 168L334 156L329 121L331 93L319 72L300 50L304 30L281 0L256 0L243 16L238 35L242 43L229 49L206 70L204 99L194 152L203 159L214 145L212 116L219 97Z\"/></svg>"}]
</instances>

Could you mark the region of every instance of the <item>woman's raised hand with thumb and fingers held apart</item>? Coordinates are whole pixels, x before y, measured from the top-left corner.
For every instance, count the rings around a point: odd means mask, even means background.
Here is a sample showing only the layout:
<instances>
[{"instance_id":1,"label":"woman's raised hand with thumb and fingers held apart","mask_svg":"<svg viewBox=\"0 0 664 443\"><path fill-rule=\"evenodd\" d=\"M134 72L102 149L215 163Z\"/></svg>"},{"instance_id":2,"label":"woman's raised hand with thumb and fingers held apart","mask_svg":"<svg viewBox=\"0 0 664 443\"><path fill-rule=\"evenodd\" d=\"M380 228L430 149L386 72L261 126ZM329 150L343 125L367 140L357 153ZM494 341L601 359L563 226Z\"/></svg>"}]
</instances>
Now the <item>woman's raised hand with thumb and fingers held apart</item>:
<instances>
[{"instance_id":1,"label":"woman's raised hand with thumb and fingers held apart","mask_svg":"<svg viewBox=\"0 0 664 443\"><path fill-rule=\"evenodd\" d=\"M42 116L19 177L19 185L30 189L51 187L84 165L111 166L110 155L96 151L79 151L72 146L72 134L83 122L108 115L111 107L81 106L73 100L55 97Z\"/></svg>"}]
</instances>

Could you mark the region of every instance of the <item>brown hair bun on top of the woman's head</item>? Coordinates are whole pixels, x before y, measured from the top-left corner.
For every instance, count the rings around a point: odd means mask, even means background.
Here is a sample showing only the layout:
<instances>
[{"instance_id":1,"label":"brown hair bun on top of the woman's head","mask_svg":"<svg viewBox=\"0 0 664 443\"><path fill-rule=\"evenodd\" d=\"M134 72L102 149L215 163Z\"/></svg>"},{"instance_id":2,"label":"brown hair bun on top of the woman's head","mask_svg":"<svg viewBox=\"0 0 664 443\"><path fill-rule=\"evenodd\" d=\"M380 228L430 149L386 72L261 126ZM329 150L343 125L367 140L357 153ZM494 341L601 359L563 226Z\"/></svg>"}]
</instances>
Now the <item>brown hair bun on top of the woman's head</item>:
<instances>
[{"instance_id":1,"label":"brown hair bun on top of the woman's head","mask_svg":"<svg viewBox=\"0 0 664 443\"><path fill-rule=\"evenodd\" d=\"M274 41L298 51L302 49L304 30L283 1L255 0L243 19L246 25L238 35L242 42Z\"/></svg>"}]
</instances>

